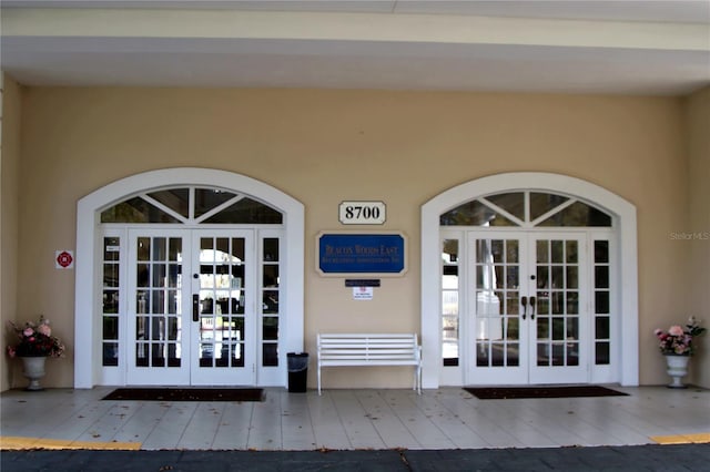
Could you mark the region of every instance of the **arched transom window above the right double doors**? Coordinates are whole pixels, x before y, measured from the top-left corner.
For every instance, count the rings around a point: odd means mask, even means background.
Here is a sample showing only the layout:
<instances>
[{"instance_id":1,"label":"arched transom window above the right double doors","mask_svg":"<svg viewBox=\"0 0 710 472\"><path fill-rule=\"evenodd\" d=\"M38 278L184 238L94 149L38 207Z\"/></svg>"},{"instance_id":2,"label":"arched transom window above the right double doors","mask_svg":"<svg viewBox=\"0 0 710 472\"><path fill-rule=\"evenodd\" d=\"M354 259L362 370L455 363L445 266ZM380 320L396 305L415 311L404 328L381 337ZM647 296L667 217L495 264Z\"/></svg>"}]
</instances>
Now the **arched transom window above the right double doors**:
<instances>
[{"instance_id":1,"label":"arched transom window above the right double doors","mask_svg":"<svg viewBox=\"0 0 710 472\"><path fill-rule=\"evenodd\" d=\"M610 227L609 214L577 198L542 192L486 195L439 217L442 226Z\"/></svg>"}]
</instances>

